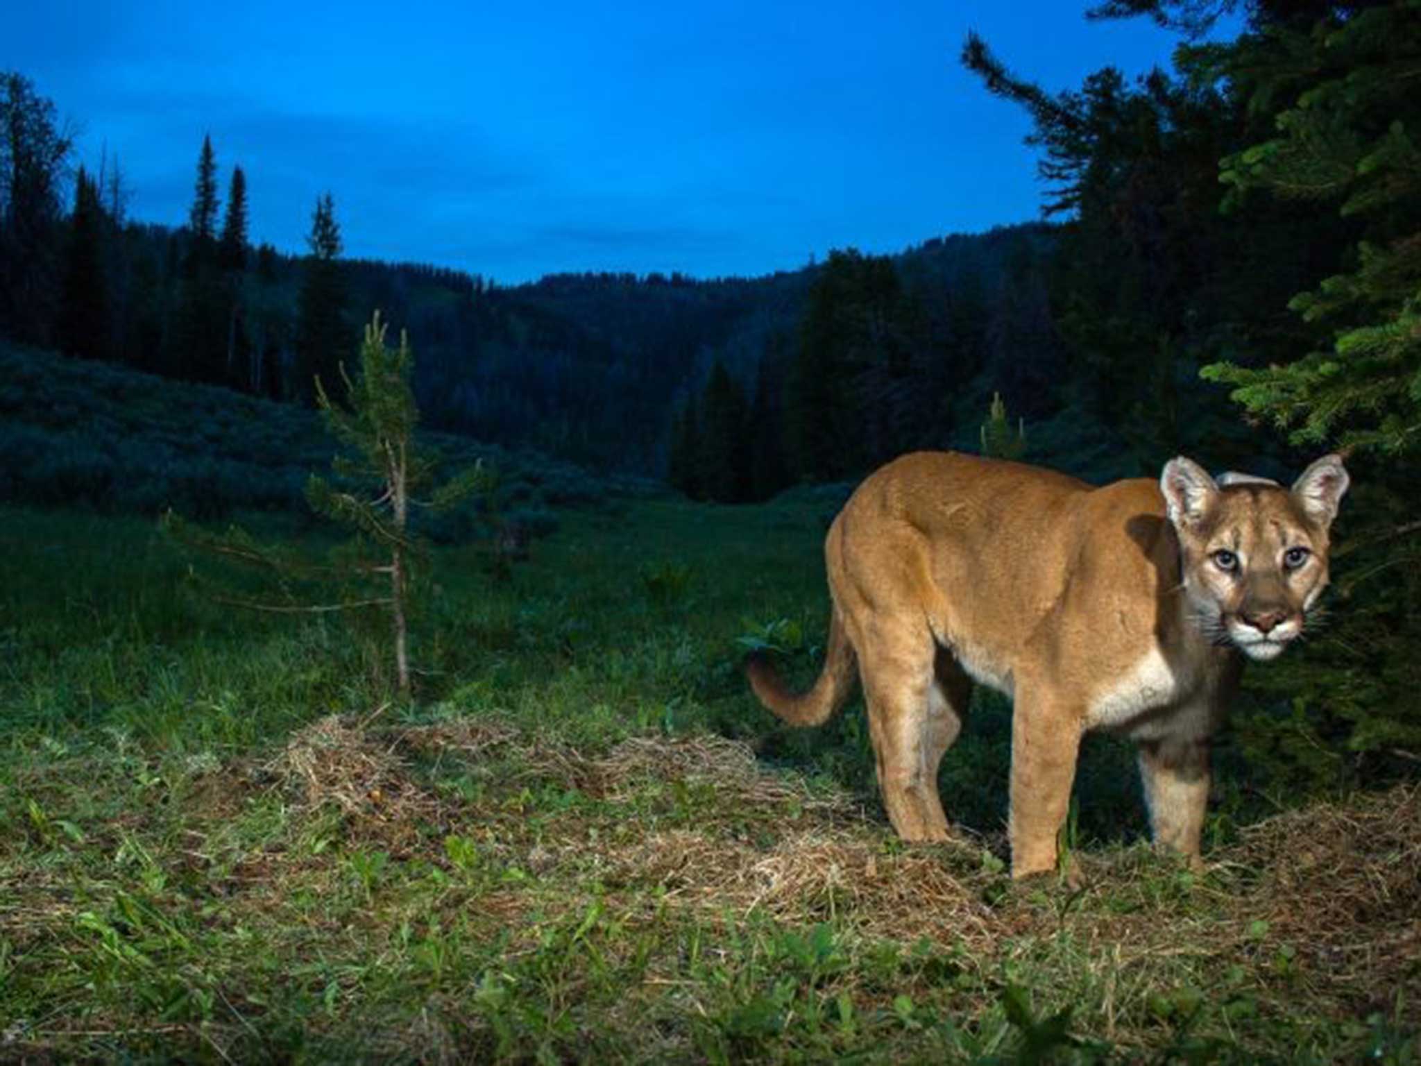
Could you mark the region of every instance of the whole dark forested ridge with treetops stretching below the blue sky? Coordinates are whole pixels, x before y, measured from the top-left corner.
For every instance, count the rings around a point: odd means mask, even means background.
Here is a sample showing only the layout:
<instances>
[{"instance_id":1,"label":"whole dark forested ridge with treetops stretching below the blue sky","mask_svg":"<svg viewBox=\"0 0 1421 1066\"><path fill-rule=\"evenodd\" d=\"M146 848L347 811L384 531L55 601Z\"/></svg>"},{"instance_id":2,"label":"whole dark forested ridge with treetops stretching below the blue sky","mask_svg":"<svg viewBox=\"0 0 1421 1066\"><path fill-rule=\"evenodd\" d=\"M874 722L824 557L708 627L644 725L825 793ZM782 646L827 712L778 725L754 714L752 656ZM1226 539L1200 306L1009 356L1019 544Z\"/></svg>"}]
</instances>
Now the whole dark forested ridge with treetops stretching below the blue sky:
<instances>
[{"instance_id":1,"label":"whole dark forested ridge with treetops stretching below the blue sky","mask_svg":"<svg viewBox=\"0 0 1421 1066\"><path fill-rule=\"evenodd\" d=\"M311 405L314 377L338 375L378 308L409 331L428 425L603 469L669 468L686 492L720 500L945 443L989 394L955 402L978 374L1022 411L1049 408L1036 395L1036 364L1057 351L1040 225L891 259L834 253L753 280L587 273L500 287L345 259L330 193L304 256L253 246L260 175L210 138L188 225L129 219L118 162L71 169L54 104L18 74L0 85L0 331L11 340Z\"/></svg>"}]
</instances>

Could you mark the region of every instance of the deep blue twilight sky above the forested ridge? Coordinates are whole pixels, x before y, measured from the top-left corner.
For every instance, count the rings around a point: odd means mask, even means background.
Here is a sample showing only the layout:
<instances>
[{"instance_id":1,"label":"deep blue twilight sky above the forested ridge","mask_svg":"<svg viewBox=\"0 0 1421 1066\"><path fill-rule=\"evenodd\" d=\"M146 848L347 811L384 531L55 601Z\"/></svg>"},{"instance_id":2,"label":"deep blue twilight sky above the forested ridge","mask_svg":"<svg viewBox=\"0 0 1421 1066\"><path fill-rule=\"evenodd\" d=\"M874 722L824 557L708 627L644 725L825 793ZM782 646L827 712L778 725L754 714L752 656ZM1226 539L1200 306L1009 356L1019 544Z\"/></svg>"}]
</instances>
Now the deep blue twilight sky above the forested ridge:
<instances>
[{"instance_id":1,"label":"deep blue twilight sky above the forested ridge","mask_svg":"<svg viewBox=\"0 0 1421 1066\"><path fill-rule=\"evenodd\" d=\"M118 155L134 217L178 225L203 134L246 171L253 240L517 283L558 270L796 269L1039 216L1025 115L961 68L968 30L1074 88L1167 63L1087 4L45 0L0 68Z\"/></svg>"}]
</instances>

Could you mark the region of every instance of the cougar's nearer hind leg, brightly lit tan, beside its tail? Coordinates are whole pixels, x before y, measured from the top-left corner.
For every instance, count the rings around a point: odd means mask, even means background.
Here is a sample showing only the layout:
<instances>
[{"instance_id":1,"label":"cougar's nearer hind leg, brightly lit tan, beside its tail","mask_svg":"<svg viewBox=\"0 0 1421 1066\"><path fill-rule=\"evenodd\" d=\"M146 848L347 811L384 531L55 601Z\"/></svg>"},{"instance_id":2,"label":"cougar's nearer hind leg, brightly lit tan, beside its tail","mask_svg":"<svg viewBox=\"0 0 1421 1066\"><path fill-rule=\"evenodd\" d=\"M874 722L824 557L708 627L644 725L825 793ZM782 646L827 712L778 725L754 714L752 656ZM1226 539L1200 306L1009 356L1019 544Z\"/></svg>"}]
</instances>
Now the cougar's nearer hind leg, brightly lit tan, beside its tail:
<instances>
[{"instance_id":1,"label":"cougar's nearer hind leg, brightly lit tan, beside its tail","mask_svg":"<svg viewBox=\"0 0 1421 1066\"><path fill-rule=\"evenodd\" d=\"M953 716L932 709L939 701L935 651L925 625L891 618L875 620L860 644L858 669L878 760L878 789L888 820L909 841L948 839L936 772L959 725Z\"/></svg>"}]
</instances>

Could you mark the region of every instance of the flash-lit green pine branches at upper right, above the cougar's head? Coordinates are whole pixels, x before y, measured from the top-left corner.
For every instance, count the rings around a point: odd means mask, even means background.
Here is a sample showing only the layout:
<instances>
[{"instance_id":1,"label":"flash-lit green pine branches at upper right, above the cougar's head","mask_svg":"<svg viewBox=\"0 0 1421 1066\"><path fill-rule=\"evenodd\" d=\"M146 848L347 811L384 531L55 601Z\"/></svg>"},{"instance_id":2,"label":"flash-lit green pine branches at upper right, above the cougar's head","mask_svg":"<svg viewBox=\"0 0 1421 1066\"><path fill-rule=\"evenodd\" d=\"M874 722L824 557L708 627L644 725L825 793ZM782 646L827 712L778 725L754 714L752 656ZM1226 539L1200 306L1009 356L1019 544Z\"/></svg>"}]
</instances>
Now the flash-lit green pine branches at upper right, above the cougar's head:
<instances>
[{"instance_id":1,"label":"flash-lit green pine branches at upper right, above the cougar's head","mask_svg":"<svg viewBox=\"0 0 1421 1066\"><path fill-rule=\"evenodd\" d=\"M1421 71L1414 3L1327 14L1307 27L1248 36L1216 60L1238 74L1275 135L1226 156L1231 203L1245 193L1334 203L1366 223L1344 270L1297 294L1304 321L1330 327L1330 348L1273 367L1218 362L1250 414L1292 429L1297 443L1401 455L1421 442Z\"/></svg>"}]
</instances>

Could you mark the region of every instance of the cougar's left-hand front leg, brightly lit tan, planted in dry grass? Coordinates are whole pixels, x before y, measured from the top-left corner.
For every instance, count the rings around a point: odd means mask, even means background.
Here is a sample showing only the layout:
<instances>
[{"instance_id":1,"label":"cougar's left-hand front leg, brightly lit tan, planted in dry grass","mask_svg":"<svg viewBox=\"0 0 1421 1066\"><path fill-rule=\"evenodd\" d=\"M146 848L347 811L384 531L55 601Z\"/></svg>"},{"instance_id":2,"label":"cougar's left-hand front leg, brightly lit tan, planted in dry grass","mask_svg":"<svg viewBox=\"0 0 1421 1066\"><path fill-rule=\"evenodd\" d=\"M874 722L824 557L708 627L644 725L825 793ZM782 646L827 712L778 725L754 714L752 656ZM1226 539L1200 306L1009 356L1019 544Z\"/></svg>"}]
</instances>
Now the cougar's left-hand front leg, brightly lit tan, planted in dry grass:
<instances>
[{"instance_id":1,"label":"cougar's left-hand front leg, brightly lit tan, planted in dry grass","mask_svg":"<svg viewBox=\"0 0 1421 1066\"><path fill-rule=\"evenodd\" d=\"M1056 836L1076 780L1081 719L1067 701L1017 685L1012 712L1012 877L1056 868Z\"/></svg>"}]
</instances>

